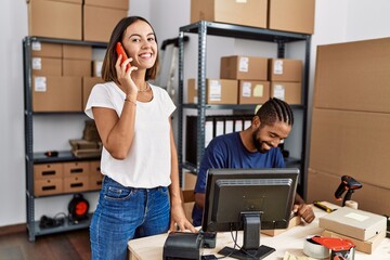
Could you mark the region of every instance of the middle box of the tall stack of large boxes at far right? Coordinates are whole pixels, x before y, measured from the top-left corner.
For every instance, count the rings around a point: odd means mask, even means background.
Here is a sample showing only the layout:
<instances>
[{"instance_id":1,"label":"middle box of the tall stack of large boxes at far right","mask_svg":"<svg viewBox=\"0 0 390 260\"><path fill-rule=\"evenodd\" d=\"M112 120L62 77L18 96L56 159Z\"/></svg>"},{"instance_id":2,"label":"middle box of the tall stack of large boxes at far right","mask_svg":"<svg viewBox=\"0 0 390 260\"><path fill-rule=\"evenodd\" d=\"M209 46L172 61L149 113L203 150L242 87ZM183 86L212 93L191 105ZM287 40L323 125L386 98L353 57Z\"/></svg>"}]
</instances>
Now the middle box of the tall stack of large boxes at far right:
<instances>
[{"instance_id":1,"label":"middle box of the tall stack of large boxes at far right","mask_svg":"<svg viewBox=\"0 0 390 260\"><path fill-rule=\"evenodd\" d=\"M314 108L310 168L390 188L389 133L388 113Z\"/></svg>"}]
</instances>

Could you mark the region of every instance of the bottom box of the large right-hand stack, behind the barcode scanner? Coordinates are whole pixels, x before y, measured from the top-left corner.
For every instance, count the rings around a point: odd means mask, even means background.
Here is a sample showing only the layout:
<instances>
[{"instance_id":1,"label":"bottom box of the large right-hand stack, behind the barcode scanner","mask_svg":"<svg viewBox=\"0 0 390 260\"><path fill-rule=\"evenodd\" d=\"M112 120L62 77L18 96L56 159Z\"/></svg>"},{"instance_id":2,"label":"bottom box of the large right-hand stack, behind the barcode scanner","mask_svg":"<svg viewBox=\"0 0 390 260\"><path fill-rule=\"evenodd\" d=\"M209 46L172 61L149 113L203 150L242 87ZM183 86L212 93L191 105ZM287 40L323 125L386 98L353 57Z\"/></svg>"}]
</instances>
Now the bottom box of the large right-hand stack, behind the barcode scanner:
<instances>
[{"instance_id":1,"label":"bottom box of the large right-hand stack, behind the barcode scanner","mask_svg":"<svg viewBox=\"0 0 390 260\"><path fill-rule=\"evenodd\" d=\"M341 206L341 202L336 202L334 195L340 183L341 178L335 173L309 169L307 202L327 200ZM390 204L385 202L385 198L390 197L390 190L362 181L361 183L363 187L352 195L352 200L358 203L358 208L377 214L390 214Z\"/></svg>"}]
</instances>

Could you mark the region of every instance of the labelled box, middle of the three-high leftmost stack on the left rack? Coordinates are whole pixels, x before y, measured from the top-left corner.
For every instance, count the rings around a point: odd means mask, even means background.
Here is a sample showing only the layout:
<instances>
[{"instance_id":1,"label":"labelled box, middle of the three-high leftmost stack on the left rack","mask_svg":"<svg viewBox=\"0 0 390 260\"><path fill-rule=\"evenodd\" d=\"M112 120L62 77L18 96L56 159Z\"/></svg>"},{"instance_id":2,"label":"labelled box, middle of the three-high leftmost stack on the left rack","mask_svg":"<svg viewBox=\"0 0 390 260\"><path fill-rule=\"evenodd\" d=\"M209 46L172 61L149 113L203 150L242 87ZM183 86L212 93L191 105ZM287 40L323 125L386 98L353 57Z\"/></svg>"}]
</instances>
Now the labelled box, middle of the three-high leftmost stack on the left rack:
<instances>
[{"instance_id":1,"label":"labelled box, middle of the three-high leftmost stack on the left rack","mask_svg":"<svg viewBox=\"0 0 390 260\"><path fill-rule=\"evenodd\" d=\"M62 60L53 57L32 57L32 76L62 76Z\"/></svg>"}]
</instances>

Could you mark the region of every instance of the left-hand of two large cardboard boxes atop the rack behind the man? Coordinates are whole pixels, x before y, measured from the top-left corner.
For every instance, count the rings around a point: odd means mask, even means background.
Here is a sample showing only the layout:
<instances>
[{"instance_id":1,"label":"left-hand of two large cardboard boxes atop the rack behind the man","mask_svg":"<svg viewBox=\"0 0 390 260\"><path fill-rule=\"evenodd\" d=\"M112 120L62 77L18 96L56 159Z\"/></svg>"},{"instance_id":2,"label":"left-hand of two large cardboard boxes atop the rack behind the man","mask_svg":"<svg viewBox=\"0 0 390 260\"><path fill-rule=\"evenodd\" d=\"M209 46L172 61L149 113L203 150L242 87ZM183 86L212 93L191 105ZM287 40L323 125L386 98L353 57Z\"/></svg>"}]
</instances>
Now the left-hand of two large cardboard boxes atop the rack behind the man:
<instances>
[{"instance_id":1,"label":"left-hand of two large cardboard boxes atop the rack behind the man","mask_svg":"<svg viewBox=\"0 0 390 260\"><path fill-rule=\"evenodd\" d=\"M191 23L200 20L266 28L268 0L191 0Z\"/></svg>"}]
</instances>

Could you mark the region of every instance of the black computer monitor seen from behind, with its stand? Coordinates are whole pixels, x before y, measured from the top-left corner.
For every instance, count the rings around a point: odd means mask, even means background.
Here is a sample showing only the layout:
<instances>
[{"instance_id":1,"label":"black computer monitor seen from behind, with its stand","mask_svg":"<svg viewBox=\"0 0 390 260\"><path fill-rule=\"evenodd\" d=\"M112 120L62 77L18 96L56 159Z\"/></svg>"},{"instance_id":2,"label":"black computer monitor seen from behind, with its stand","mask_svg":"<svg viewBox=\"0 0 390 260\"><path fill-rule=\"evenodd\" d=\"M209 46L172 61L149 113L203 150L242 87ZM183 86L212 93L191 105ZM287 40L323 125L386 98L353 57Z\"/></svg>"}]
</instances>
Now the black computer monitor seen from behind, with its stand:
<instances>
[{"instance_id":1,"label":"black computer monitor seen from behind, with its stand","mask_svg":"<svg viewBox=\"0 0 390 260\"><path fill-rule=\"evenodd\" d=\"M275 251L260 246L260 229L286 229L294 206L299 170L210 169L202 230L243 230L240 249L219 253L236 259L262 259Z\"/></svg>"}]
</instances>

